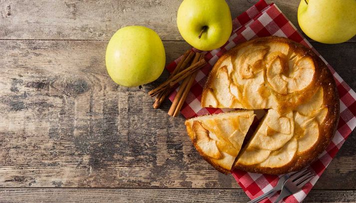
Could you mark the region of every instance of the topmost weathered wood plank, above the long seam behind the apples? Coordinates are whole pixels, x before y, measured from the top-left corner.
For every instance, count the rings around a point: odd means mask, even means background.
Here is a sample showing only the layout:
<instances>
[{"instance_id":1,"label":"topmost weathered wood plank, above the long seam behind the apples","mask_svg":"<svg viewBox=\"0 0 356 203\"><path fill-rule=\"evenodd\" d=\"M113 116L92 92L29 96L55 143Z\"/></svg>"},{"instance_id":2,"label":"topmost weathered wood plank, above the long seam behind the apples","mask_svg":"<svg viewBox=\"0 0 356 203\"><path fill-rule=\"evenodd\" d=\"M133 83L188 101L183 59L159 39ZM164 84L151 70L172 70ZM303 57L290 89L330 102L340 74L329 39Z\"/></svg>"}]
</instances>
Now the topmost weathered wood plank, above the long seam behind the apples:
<instances>
[{"instance_id":1,"label":"topmost weathered wood plank, above the long seam behind the apples","mask_svg":"<svg viewBox=\"0 0 356 203\"><path fill-rule=\"evenodd\" d=\"M1 0L0 39L110 39L120 27L145 25L163 40L182 40L181 0ZM227 0L236 17L257 0ZM300 0L270 0L298 26ZM356 37L352 41L356 41Z\"/></svg>"}]
</instances>

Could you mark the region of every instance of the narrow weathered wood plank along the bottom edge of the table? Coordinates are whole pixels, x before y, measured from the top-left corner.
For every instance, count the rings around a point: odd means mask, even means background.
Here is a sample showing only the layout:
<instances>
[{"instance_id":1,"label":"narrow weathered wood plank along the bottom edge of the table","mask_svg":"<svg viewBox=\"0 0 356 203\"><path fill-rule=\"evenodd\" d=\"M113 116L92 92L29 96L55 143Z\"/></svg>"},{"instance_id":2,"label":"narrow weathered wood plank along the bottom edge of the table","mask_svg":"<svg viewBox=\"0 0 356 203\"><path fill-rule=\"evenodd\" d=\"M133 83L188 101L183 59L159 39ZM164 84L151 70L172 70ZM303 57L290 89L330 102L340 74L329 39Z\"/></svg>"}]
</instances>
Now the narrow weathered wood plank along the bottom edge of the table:
<instances>
[{"instance_id":1,"label":"narrow weathered wood plank along the bottom edge of the table","mask_svg":"<svg viewBox=\"0 0 356 203\"><path fill-rule=\"evenodd\" d=\"M246 203L241 189L0 189L6 203ZM304 203L356 202L356 191L312 190Z\"/></svg>"}]
</instances>

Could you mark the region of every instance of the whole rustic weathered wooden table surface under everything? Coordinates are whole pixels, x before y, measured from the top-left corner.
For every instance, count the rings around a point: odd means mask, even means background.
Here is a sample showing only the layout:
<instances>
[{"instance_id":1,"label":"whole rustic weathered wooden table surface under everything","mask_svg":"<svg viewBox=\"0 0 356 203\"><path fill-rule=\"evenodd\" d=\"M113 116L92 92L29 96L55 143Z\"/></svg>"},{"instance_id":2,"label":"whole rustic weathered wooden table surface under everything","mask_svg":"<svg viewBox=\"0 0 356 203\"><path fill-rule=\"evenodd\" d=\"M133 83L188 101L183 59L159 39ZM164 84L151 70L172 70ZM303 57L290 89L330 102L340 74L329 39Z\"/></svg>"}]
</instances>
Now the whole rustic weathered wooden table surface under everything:
<instances>
[{"instance_id":1,"label":"whole rustic weathered wooden table surface under everything","mask_svg":"<svg viewBox=\"0 0 356 203\"><path fill-rule=\"evenodd\" d=\"M116 85L105 47L124 25L164 41L167 62L189 45L181 0L0 0L0 202L247 202L232 176L208 165L184 118L152 108L147 92ZM253 0L228 0L232 15ZM299 0L275 1L298 25ZM312 42L356 89L356 37ZM356 200L355 131L305 202Z\"/></svg>"}]
</instances>

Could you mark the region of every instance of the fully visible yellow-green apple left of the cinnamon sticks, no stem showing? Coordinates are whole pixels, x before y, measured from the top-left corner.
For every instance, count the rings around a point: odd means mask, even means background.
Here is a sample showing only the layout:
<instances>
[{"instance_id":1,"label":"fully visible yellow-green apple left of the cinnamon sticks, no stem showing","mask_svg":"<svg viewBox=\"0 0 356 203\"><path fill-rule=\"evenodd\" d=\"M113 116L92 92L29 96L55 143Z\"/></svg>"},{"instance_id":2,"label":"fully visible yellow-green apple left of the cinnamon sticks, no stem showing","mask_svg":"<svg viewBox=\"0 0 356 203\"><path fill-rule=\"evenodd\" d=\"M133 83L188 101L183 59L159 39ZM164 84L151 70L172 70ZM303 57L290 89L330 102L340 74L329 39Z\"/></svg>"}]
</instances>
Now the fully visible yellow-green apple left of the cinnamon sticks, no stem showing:
<instances>
[{"instance_id":1,"label":"fully visible yellow-green apple left of the cinnamon sticks, no stem showing","mask_svg":"<svg viewBox=\"0 0 356 203\"><path fill-rule=\"evenodd\" d=\"M165 62L161 39L155 31L144 26L117 30L106 47L107 72L122 86L139 86L156 80Z\"/></svg>"}]
</instances>

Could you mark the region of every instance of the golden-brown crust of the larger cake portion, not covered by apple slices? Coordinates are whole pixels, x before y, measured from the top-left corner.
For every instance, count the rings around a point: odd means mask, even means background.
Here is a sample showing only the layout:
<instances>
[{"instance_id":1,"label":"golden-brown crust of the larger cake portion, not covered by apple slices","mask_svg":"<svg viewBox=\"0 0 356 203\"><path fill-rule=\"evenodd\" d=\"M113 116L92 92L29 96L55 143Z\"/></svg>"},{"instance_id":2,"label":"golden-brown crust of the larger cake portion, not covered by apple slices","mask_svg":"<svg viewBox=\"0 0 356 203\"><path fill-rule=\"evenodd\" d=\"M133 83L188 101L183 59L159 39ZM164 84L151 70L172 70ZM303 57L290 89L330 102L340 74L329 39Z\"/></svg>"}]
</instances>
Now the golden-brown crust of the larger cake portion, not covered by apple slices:
<instances>
[{"instance_id":1,"label":"golden-brown crust of the larger cake portion, not covered by apple slices","mask_svg":"<svg viewBox=\"0 0 356 203\"><path fill-rule=\"evenodd\" d=\"M319 58L311 49L303 46L300 43L294 42L284 37L270 36L270 37L256 38L247 41L245 43L237 45L236 47L226 52L216 62L216 64L214 65L212 71L208 76L207 82L203 89L201 102L203 107L222 108L219 105L212 106L208 104L206 99L209 91L211 92L214 91L213 80L216 77L218 68L228 57L234 57L234 55L237 54L237 52L241 47L245 47L249 44L259 45L259 44L265 44L270 42L287 43L290 46L290 48L293 49L294 52L299 53L300 55L303 56L310 56L313 59L314 66L315 66L315 74L313 76L312 82L306 88L289 94L279 94L274 92L274 94L278 96L277 98L278 98L279 105L277 110L282 113L288 111L294 111L299 105L305 103L314 94L316 94L316 91L320 87L322 87L324 91L323 105L328 109L328 113L326 114L325 119L321 124L319 124L319 137L316 143L310 149L302 153L298 153L298 155L294 156L294 158L288 164L282 167L268 168L268 167L261 167L258 165L249 165L249 166L240 165L235 162L235 165L233 167L236 169L241 169L253 173L278 175L278 174L284 174L292 171L297 171L309 165L313 160L318 158L318 156L325 150L325 148L329 145L330 141L333 139L333 136L337 130L337 125L340 116L339 94L337 92L336 83L333 78L333 75L321 58ZM239 156L240 155L241 153L239 154Z\"/></svg>"}]
</instances>

